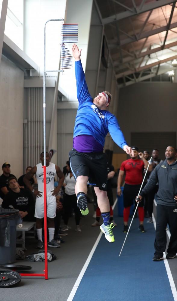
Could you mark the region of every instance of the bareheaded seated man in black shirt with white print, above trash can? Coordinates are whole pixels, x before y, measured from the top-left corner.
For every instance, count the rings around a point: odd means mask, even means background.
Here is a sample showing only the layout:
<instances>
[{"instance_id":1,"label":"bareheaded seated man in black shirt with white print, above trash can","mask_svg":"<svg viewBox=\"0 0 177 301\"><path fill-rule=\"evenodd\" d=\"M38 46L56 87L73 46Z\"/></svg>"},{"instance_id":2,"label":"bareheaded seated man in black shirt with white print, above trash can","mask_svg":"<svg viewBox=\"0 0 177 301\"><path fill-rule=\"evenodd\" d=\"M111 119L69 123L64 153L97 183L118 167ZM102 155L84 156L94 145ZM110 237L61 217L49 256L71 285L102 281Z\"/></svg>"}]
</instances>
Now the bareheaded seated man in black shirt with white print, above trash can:
<instances>
[{"instance_id":1,"label":"bareheaded seated man in black shirt with white print, above trash can","mask_svg":"<svg viewBox=\"0 0 177 301\"><path fill-rule=\"evenodd\" d=\"M10 191L4 197L2 208L10 208L9 206L13 206L13 208L19 210L23 221L35 221L35 204L32 193L28 189L19 188L15 176L8 179L8 185Z\"/></svg>"}]
</instances>

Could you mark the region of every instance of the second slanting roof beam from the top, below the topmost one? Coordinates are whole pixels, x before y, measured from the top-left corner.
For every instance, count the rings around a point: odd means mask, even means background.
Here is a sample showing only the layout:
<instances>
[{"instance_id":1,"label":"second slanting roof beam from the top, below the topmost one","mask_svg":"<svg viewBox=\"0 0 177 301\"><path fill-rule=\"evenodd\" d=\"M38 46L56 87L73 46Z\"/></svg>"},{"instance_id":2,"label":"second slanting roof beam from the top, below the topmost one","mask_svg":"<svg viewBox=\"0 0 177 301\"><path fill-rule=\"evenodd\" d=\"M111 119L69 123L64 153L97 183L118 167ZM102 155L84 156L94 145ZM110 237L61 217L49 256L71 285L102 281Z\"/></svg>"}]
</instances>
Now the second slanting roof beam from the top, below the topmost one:
<instances>
[{"instance_id":1,"label":"second slanting roof beam from the top, below the topmost one","mask_svg":"<svg viewBox=\"0 0 177 301\"><path fill-rule=\"evenodd\" d=\"M166 30L169 30L169 29L172 29L172 28L175 28L175 27L177 27L177 22L170 24L169 28L168 28L168 25L165 25L165 26L162 26L162 27L158 27L156 29L152 29L150 31L145 31L144 33L141 33L141 37L138 40L147 38L148 36L156 35L158 33L161 33L163 31L166 31ZM136 42L136 41L137 41L137 39L133 36L131 38L124 39L124 40L120 41L120 45L118 45L117 41L114 44L111 44L110 43L111 41L108 40L109 49L115 49L115 48L118 48L120 46L129 44L129 43L132 43L132 42Z\"/></svg>"}]
</instances>

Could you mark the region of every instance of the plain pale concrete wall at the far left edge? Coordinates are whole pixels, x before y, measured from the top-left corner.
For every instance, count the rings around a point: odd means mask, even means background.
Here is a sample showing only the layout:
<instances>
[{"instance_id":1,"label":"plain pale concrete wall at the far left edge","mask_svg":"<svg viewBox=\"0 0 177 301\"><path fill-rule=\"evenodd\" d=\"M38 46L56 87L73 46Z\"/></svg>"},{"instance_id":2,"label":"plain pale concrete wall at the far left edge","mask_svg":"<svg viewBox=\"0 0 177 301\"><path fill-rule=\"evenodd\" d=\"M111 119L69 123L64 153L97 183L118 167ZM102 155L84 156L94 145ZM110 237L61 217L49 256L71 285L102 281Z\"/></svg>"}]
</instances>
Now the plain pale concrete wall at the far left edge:
<instances>
[{"instance_id":1,"label":"plain pale concrete wall at the far left edge","mask_svg":"<svg viewBox=\"0 0 177 301\"><path fill-rule=\"evenodd\" d=\"M4 162L11 173L23 173L23 71L2 56L0 65L0 170Z\"/></svg>"}]
</instances>

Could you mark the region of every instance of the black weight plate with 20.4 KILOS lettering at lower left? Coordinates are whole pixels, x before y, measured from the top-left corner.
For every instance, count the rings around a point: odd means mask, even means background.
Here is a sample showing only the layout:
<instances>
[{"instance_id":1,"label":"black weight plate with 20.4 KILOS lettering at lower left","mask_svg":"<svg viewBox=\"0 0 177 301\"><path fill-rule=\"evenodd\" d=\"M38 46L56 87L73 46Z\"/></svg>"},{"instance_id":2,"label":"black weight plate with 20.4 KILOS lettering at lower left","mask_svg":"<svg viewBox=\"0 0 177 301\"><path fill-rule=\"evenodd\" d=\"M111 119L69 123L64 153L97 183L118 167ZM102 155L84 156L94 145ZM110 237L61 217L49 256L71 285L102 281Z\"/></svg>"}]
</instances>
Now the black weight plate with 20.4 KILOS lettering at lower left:
<instances>
[{"instance_id":1,"label":"black weight plate with 20.4 KILOS lettering at lower left","mask_svg":"<svg viewBox=\"0 0 177 301\"><path fill-rule=\"evenodd\" d=\"M0 288L12 287L21 281L21 276L14 271L0 271Z\"/></svg>"}]
</instances>

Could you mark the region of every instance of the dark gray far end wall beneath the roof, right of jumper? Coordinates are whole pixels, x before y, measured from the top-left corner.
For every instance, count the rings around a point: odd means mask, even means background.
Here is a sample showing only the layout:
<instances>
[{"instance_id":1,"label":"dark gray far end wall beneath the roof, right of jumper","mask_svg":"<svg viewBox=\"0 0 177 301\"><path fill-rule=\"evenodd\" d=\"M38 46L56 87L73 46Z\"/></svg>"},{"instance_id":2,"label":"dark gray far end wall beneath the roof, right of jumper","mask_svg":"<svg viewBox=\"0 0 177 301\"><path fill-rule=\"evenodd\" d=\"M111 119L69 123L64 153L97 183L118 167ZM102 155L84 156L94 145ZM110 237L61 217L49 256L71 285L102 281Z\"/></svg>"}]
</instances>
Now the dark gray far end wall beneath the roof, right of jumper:
<instances>
[{"instance_id":1,"label":"dark gray far end wall beneath the roof, right of jumper","mask_svg":"<svg viewBox=\"0 0 177 301\"><path fill-rule=\"evenodd\" d=\"M131 132L176 132L176 91L177 83L171 82L142 82L120 89L117 118L129 144ZM114 145L114 153L120 152Z\"/></svg>"}]
</instances>

